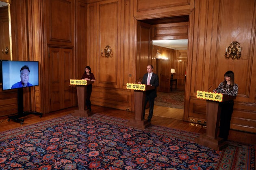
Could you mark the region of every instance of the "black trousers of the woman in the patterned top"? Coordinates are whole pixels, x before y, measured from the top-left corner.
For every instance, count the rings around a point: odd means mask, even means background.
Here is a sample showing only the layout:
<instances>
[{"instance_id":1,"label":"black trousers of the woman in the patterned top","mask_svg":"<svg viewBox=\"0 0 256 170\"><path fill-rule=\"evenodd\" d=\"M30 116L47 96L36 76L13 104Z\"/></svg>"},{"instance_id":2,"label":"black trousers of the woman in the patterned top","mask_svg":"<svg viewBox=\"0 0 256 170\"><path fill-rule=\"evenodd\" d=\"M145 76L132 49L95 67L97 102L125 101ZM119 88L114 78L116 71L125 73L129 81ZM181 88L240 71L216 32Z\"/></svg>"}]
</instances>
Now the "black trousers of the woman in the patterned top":
<instances>
[{"instance_id":1,"label":"black trousers of the woman in the patterned top","mask_svg":"<svg viewBox=\"0 0 256 170\"><path fill-rule=\"evenodd\" d=\"M221 107L219 137L228 140L230 121L234 109L234 100L219 103Z\"/></svg>"}]
</instances>

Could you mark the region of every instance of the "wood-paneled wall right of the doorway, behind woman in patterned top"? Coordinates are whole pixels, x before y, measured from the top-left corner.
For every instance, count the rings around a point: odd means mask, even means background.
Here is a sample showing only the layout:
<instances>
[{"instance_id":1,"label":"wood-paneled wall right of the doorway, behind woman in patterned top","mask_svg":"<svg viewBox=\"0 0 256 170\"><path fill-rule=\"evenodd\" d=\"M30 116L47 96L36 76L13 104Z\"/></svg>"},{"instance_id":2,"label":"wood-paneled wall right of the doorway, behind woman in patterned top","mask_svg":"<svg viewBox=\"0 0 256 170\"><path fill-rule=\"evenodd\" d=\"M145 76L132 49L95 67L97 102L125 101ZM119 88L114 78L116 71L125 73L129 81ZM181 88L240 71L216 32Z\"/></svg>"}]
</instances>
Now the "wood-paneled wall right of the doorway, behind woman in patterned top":
<instances>
[{"instance_id":1,"label":"wood-paneled wall right of the doorway, behind woman in patterned top","mask_svg":"<svg viewBox=\"0 0 256 170\"><path fill-rule=\"evenodd\" d=\"M195 4L200 11L195 14L194 22L198 25L194 24L194 36L197 38L194 39L193 45L196 50L193 51L191 67L192 90L189 106L192 108L189 109L189 119L202 117L202 114L198 115L200 108L195 107L196 91L213 90L223 81L224 73L232 70L235 74L235 82L239 85L239 94L234 102L231 128L256 132L256 79L254 79L256 65L252 60L255 56L255 38L253 38L256 32L255 3L255 1L237 0L231 3L219 0L214 4L211 1ZM226 15L232 13L238 6L247 10L236 10L235 16ZM236 21L241 21L239 26ZM225 48L234 40L243 47L242 57L239 60L226 59L224 56Z\"/></svg>"}]
</instances>

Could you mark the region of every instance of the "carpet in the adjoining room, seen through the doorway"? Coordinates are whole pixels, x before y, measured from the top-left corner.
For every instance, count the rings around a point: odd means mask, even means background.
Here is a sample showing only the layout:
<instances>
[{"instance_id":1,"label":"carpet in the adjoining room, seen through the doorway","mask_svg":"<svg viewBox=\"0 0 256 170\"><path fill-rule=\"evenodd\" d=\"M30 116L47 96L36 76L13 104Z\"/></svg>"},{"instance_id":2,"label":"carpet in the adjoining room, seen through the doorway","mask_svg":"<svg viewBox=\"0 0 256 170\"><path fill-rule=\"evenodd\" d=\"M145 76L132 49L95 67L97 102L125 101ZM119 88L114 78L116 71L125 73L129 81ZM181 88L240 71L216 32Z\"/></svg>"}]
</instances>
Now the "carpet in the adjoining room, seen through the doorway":
<instances>
[{"instance_id":1,"label":"carpet in the adjoining room, seen through the doorway","mask_svg":"<svg viewBox=\"0 0 256 170\"><path fill-rule=\"evenodd\" d=\"M182 90L174 90L170 93L158 92L154 104L157 106L184 109L184 98L185 92Z\"/></svg>"}]
</instances>

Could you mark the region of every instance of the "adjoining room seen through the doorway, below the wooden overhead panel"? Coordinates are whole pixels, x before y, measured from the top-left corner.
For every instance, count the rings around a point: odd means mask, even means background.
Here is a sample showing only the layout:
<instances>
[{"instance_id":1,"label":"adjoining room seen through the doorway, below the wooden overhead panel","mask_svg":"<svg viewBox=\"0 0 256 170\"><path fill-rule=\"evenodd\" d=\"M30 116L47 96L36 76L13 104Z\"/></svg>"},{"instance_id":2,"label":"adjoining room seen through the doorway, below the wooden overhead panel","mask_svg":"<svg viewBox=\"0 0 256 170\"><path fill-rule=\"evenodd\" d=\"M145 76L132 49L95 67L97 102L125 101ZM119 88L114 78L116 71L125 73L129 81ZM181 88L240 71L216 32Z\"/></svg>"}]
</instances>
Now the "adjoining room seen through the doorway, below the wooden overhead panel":
<instances>
[{"instance_id":1,"label":"adjoining room seen through the doorway, below the wooden overhead panel","mask_svg":"<svg viewBox=\"0 0 256 170\"><path fill-rule=\"evenodd\" d=\"M167 48L169 40L161 40L161 43L158 40L153 41L153 48L158 48L155 71L160 82L157 98L155 99L154 115L184 119L187 40L182 41L183 44L180 47L174 44L176 48L171 47L171 45ZM172 42L175 42L175 40L172 40ZM164 52L164 55L161 55L161 51L171 52Z\"/></svg>"}]
</instances>

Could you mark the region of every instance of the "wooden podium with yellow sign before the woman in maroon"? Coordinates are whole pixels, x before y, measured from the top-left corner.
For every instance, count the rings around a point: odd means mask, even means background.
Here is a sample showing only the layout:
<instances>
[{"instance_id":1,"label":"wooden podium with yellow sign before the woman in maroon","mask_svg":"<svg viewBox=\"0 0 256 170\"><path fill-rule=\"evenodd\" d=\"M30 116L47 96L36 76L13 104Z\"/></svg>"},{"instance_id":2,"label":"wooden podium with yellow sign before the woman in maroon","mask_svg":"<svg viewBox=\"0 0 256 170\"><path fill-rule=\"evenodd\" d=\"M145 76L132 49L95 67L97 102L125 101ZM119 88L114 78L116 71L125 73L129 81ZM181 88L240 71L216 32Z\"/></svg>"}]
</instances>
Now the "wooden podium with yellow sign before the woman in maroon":
<instances>
[{"instance_id":1,"label":"wooden podium with yellow sign before the woman in maroon","mask_svg":"<svg viewBox=\"0 0 256 170\"><path fill-rule=\"evenodd\" d=\"M77 100L78 100L78 110L72 114L74 116L80 117L89 117L92 115L92 112L89 109L86 109L85 106L85 96L87 92L87 85L93 84L93 81L86 81L86 80L70 80L70 85L76 85L76 92L77 92Z\"/></svg>"}]
</instances>

